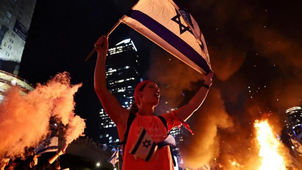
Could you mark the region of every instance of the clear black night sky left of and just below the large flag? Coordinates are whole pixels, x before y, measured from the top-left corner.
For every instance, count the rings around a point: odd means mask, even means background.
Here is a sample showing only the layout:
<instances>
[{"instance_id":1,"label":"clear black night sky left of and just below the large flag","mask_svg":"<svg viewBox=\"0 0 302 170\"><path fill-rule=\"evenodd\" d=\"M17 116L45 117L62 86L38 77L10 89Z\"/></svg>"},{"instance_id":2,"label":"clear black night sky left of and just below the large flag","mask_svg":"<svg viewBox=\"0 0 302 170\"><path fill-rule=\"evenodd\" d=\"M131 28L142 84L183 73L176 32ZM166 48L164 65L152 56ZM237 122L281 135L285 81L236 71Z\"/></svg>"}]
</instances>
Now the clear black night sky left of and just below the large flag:
<instances>
[{"instance_id":1,"label":"clear black night sky left of and just below the large flag","mask_svg":"<svg viewBox=\"0 0 302 170\"><path fill-rule=\"evenodd\" d=\"M44 83L57 72L66 71L70 73L72 84L83 82L75 96L75 113L87 119L85 134L95 140L99 135L101 107L93 88L96 53L88 62L84 59L94 48L96 40L106 34L134 4L129 2L120 8L113 1L38 0L36 3L19 76L35 84ZM109 47L126 38L133 39L139 55L148 55L148 46L155 46L128 26L120 25L110 36ZM148 64L147 57L141 60L147 60Z\"/></svg>"}]
</instances>

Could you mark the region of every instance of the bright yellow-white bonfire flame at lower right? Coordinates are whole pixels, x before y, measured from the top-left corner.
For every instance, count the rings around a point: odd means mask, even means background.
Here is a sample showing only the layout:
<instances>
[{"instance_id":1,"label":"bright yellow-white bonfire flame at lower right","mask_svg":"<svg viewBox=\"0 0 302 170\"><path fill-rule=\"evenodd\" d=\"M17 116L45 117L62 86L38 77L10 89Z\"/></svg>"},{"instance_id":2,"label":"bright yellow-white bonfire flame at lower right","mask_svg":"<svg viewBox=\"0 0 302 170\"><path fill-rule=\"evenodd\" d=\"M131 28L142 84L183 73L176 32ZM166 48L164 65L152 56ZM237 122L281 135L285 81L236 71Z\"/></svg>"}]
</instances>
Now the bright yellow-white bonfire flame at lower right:
<instances>
[{"instance_id":1,"label":"bright yellow-white bonfire flame at lower right","mask_svg":"<svg viewBox=\"0 0 302 170\"><path fill-rule=\"evenodd\" d=\"M268 120L255 120L254 127L261 158L259 170L286 170L284 158L278 153L281 142L272 132Z\"/></svg>"}]
</instances>

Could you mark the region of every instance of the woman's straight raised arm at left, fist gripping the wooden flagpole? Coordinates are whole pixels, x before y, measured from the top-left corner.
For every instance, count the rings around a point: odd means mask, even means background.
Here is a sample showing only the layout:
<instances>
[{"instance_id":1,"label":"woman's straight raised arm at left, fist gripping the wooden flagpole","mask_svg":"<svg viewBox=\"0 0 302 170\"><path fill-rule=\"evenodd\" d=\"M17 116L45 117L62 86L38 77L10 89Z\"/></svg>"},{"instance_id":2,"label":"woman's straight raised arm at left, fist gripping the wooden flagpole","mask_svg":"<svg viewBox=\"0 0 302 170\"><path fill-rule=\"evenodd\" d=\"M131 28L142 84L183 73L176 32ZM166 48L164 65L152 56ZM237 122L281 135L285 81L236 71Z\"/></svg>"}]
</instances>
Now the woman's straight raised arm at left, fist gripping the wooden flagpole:
<instances>
[{"instance_id":1,"label":"woman's straight raised arm at left, fist gripping the wooden flagpole","mask_svg":"<svg viewBox=\"0 0 302 170\"><path fill-rule=\"evenodd\" d=\"M106 57L108 50L108 37L102 36L98 39L95 47L98 52L96 61L96 69L94 71L94 90L98 95L105 112L112 121L119 127L125 126L129 111L123 108L112 93L109 92L106 86Z\"/></svg>"}]
</instances>

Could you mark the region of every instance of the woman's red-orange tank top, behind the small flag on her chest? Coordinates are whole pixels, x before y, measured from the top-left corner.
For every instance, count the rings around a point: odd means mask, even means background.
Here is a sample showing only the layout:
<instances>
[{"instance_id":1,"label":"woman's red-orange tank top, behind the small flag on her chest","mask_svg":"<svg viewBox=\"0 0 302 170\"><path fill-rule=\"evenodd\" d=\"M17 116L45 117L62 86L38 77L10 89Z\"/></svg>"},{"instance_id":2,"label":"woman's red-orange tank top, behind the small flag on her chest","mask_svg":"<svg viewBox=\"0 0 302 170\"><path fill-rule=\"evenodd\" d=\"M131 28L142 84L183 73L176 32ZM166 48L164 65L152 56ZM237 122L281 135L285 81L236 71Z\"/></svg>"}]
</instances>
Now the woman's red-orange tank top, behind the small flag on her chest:
<instances>
[{"instance_id":1,"label":"woman's red-orange tank top, behind the small flag on her chest","mask_svg":"<svg viewBox=\"0 0 302 170\"><path fill-rule=\"evenodd\" d=\"M148 162L140 158L135 160L134 156L129 153L132 145L135 144L141 128L145 128L156 143L167 138L166 127L157 116L135 115L136 117L130 126L127 143L125 145L122 170L174 170L173 160L168 146L157 149Z\"/></svg>"}]
</instances>

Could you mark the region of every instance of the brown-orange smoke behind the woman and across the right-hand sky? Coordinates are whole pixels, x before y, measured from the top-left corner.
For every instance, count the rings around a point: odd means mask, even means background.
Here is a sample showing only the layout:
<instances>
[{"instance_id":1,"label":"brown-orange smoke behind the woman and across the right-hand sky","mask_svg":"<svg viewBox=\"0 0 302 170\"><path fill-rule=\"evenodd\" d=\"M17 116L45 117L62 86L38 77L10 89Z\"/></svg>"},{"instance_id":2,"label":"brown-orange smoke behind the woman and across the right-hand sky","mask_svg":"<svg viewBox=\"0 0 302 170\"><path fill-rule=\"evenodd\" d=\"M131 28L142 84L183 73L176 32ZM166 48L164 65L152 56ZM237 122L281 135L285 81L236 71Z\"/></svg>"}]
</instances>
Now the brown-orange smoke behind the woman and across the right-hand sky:
<instances>
[{"instance_id":1,"label":"brown-orange smoke behind the woman and across the right-hand sky","mask_svg":"<svg viewBox=\"0 0 302 170\"><path fill-rule=\"evenodd\" d=\"M275 10L286 2L277 6L254 1L181 2L201 26L216 73L213 87L219 89L212 87L204 104L188 120L195 135L184 138L180 145L185 168L196 169L216 158L222 169L256 169L261 161L255 119L266 116L274 132L280 134L282 120L287 119L285 110L301 105L302 43L300 31L292 27L297 18L284 21L281 15L287 10ZM290 11L298 16L298 8ZM280 26L281 20L286 24ZM166 52L155 50L151 59L151 78L161 88L161 112L186 104L200 87L202 76ZM163 107L164 102L169 106ZM219 112L214 111L218 108ZM217 120L212 120L212 115ZM228 126L218 124L223 120L228 120ZM288 149L282 147L284 157L290 158Z\"/></svg>"}]
</instances>

